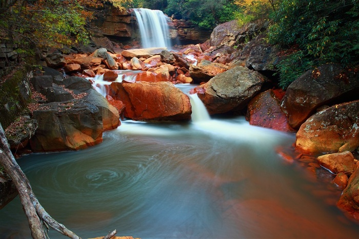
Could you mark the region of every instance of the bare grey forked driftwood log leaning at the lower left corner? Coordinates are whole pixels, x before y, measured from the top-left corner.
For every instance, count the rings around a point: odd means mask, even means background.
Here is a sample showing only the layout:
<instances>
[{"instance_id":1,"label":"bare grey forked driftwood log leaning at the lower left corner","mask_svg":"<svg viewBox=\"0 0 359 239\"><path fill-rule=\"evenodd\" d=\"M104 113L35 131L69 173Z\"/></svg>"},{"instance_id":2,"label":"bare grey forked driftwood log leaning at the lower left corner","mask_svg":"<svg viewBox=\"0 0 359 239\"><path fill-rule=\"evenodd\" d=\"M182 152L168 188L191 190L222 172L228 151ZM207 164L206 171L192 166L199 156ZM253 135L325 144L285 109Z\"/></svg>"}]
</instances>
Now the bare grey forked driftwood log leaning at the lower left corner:
<instances>
[{"instance_id":1,"label":"bare grey forked driftwood log leaning at the lower left corner","mask_svg":"<svg viewBox=\"0 0 359 239\"><path fill-rule=\"evenodd\" d=\"M67 229L63 224L56 222L41 206L36 196L34 195L30 182L25 173L16 163L12 155L3 126L0 124L0 164L4 170L9 174L11 180L16 186L18 195L20 197L23 209L28 218L31 236L34 239L46 239L49 227L57 232L66 235L72 239L81 239L75 233ZM116 233L116 230L109 233L111 238Z\"/></svg>"}]
</instances>

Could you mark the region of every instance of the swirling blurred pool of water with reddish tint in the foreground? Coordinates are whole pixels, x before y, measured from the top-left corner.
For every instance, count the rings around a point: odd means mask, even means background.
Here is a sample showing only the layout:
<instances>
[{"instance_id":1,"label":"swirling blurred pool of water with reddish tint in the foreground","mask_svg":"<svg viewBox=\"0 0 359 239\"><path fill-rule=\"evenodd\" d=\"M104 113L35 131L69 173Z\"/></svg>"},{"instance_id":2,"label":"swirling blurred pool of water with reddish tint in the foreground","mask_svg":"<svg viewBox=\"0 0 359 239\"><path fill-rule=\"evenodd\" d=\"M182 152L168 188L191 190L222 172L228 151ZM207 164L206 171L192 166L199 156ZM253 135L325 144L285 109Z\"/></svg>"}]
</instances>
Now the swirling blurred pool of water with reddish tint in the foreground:
<instances>
[{"instance_id":1,"label":"swirling blurred pool of water with reddish tint in the foreground","mask_svg":"<svg viewBox=\"0 0 359 239\"><path fill-rule=\"evenodd\" d=\"M18 163L39 202L82 238L114 229L141 238L357 238L357 225L312 194L325 186L277 155L293 142L243 117L124 121L97 146ZM18 198L0 210L0 225L0 238L30 238Z\"/></svg>"}]
</instances>

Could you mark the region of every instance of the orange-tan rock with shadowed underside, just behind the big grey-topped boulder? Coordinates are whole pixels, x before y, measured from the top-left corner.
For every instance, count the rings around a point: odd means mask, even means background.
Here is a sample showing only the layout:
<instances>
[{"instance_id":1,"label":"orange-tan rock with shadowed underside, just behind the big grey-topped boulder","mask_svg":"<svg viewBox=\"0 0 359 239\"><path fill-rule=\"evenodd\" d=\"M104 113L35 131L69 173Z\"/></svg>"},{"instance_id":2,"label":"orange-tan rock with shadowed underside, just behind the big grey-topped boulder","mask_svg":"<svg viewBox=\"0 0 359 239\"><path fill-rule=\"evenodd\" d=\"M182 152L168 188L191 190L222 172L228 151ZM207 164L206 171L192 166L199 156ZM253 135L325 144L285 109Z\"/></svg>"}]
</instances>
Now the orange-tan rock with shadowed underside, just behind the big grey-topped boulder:
<instances>
[{"instance_id":1,"label":"orange-tan rock with shadowed underside, just behind the big grey-topped boulder","mask_svg":"<svg viewBox=\"0 0 359 239\"><path fill-rule=\"evenodd\" d=\"M225 72L228 69L226 65L220 63L212 63L210 61L203 60L195 65L190 65L189 74L197 82L207 82L213 76Z\"/></svg>"}]
</instances>

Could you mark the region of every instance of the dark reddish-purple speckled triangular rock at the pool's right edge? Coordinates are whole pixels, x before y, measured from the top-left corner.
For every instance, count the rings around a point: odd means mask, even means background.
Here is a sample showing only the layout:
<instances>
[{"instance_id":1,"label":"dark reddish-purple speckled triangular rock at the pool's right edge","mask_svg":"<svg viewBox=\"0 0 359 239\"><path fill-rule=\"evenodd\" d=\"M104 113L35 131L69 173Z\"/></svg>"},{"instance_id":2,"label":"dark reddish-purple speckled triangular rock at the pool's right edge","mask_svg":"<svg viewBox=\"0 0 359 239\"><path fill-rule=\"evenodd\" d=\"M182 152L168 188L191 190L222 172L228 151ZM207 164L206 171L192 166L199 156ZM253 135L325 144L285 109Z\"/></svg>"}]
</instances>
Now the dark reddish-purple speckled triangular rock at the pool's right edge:
<instances>
[{"instance_id":1,"label":"dark reddish-purple speckled triangular rock at the pool's right edge","mask_svg":"<svg viewBox=\"0 0 359 239\"><path fill-rule=\"evenodd\" d=\"M294 130L282 112L280 100L275 94L278 90L267 90L256 95L248 104L247 120L249 124L285 132Z\"/></svg>"}]
</instances>

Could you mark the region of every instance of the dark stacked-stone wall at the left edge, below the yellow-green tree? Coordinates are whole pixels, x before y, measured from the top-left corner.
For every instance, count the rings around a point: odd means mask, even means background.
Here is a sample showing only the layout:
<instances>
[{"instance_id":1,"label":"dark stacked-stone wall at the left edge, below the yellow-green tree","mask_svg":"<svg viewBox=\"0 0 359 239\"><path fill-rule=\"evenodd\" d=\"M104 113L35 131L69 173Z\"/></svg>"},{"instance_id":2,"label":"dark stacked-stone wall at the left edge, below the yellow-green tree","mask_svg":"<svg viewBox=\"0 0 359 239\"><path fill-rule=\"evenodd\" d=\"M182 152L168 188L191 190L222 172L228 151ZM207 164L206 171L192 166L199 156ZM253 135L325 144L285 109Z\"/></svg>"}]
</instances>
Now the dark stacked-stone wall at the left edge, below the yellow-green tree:
<instances>
[{"instance_id":1,"label":"dark stacked-stone wall at the left edge, below the yellow-green tree","mask_svg":"<svg viewBox=\"0 0 359 239\"><path fill-rule=\"evenodd\" d=\"M0 78L7 75L19 64L17 44L7 39L0 39Z\"/></svg>"}]
</instances>

